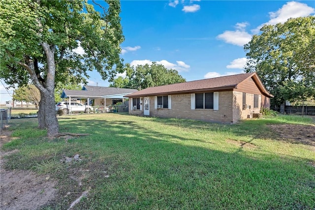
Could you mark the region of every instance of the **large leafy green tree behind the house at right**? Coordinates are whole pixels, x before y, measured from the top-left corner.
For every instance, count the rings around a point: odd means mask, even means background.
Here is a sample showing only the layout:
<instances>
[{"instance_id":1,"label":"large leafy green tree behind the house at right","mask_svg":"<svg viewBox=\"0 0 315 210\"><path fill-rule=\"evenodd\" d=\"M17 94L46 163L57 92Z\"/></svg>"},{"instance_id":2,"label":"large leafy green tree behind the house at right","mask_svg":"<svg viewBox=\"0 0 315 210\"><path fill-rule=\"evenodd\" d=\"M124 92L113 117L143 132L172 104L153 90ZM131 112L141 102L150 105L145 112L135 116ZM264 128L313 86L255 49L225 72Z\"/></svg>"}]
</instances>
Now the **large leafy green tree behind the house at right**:
<instances>
[{"instance_id":1,"label":"large leafy green tree behind the house at right","mask_svg":"<svg viewBox=\"0 0 315 210\"><path fill-rule=\"evenodd\" d=\"M287 20L265 25L245 45L246 71L256 71L275 98L274 106L284 100L304 100L315 88L315 17Z\"/></svg>"}]
</instances>

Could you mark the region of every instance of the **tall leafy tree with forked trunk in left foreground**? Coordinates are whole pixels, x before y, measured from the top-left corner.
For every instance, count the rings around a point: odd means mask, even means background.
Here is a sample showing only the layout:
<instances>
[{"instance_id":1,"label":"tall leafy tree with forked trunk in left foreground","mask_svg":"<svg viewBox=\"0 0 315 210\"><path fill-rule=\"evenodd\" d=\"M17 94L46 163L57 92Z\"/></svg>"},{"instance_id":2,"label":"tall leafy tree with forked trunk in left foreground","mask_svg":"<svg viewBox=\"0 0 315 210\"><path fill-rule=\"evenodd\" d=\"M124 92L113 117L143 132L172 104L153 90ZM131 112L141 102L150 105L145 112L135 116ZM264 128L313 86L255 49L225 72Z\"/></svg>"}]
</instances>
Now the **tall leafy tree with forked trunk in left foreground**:
<instances>
[{"instance_id":1,"label":"tall leafy tree with forked trunk in left foreground","mask_svg":"<svg viewBox=\"0 0 315 210\"><path fill-rule=\"evenodd\" d=\"M122 69L120 11L118 0L0 1L0 77L12 86L32 81L41 94L38 125L48 136L59 132L56 82L68 75L80 82L94 69L112 80Z\"/></svg>"}]
</instances>

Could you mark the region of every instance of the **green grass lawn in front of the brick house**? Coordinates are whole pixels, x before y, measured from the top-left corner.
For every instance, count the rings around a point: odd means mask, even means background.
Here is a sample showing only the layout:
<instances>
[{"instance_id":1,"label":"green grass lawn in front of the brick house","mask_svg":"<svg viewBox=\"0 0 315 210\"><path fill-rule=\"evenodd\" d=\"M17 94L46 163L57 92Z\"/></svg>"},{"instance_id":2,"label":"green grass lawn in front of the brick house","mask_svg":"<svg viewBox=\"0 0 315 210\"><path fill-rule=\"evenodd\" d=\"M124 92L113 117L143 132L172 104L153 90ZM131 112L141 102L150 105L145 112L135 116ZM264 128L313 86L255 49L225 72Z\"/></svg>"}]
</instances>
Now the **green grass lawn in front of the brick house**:
<instances>
[{"instance_id":1,"label":"green grass lawn in front of the brick house","mask_svg":"<svg viewBox=\"0 0 315 210\"><path fill-rule=\"evenodd\" d=\"M279 140L267 126L299 124L312 131L310 118L223 125L124 114L62 116L60 132L91 134L67 141L47 139L36 120L11 120L18 138L1 150L19 150L6 157L5 168L59 181L60 197L43 209L67 209L85 190L88 196L75 209L315 209L314 146ZM75 154L81 162L60 162ZM81 177L82 185L71 176Z\"/></svg>"}]
</instances>

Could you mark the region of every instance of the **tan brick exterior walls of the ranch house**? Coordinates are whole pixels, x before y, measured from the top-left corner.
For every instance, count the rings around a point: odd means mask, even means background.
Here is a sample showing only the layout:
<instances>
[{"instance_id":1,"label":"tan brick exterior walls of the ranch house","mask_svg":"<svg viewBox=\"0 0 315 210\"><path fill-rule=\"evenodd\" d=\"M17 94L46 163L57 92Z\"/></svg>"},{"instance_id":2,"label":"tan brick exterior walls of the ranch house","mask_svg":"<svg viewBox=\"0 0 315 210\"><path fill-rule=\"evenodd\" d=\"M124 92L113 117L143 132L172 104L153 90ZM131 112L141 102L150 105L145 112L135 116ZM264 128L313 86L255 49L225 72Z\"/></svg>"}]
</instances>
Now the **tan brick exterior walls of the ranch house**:
<instances>
[{"instance_id":1,"label":"tan brick exterior walls of the ranch house","mask_svg":"<svg viewBox=\"0 0 315 210\"><path fill-rule=\"evenodd\" d=\"M171 109L155 109L155 97L150 96L150 116L160 118L180 118L191 120L203 120L212 122L235 123L239 120L252 118L253 113L259 113L261 109L261 95L258 97L258 108L254 106L254 94L246 94L246 103L251 108L243 109L243 92L221 91L219 92L219 110L195 109L191 110L191 94L172 95ZM143 101L143 97L142 97ZM131 110L132 98L129 98L129 114L143 116L143 109Z\"/></svg>"}]
</instances>

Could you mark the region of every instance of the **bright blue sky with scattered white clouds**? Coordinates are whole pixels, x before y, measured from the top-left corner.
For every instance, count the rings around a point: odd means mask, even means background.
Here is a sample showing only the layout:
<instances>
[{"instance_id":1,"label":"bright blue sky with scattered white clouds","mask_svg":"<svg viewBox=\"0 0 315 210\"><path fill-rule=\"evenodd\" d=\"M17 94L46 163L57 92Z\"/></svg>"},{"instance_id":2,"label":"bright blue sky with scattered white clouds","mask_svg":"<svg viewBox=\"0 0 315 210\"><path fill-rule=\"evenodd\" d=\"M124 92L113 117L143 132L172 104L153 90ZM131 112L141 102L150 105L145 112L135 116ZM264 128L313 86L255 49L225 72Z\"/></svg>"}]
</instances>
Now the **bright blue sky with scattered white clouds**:
<instances>
[{"instance_id":1,"label":"bright blue sky with scattered white clouds","mask_svg":"<svg viewBox=\"0 0 315 210\"><path fill-rule=\"evenodd\" d=\"M187 81L242 73L243 46L264 24L315 15L314 0L123 0L121 8L125 63L156 61ZM88 85L109 85L90 76ZM0 91L1 102L10 100L2 84Z\"/></svg>"}]
</instances>

